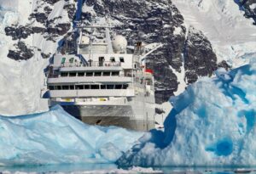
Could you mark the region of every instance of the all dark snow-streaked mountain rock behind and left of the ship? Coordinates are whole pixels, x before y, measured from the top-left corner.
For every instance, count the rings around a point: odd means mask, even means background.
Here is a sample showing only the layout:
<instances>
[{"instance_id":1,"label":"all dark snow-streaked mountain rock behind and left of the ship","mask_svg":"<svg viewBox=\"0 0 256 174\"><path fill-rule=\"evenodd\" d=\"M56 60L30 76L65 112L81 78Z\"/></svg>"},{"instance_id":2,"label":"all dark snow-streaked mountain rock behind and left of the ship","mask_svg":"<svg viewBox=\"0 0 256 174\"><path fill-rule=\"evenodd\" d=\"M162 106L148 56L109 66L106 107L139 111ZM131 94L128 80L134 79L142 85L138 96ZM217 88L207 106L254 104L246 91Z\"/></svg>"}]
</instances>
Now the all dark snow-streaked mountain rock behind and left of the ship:
<instances>
[{"instance_id":1,"label":"all dark snow-streaked mountain rock behind and left of the ship","mask_svg":"<svg viewBox=\"0 0 256 174\"><path fill-rule=\"evenodd\" d=\"M59 42L66 53L76 52L77 35L72 32L74 20L90 24L108 16L113 31L126 36L129 45L138 41L143 32L143 42L161 42L164 47L148 56L148 67L154 70L156 102L162 104L177 91L180 81L195 82L199 76L212 76L218 66L228 68L225 62L218 65L211 42L201 31L183 24L183 16L171 0L66 0L67 22L56 22L62 16L49 19L55 3L60 0L42 0L30 15L30 25L12 25L5 28L6 35L17 43L15 50L9 50L10 59L30 59L32 48L22 40L34 33L40 33L49 41ZM82 9L83 8L83 9ZM90 10L89 10L90 9ZM32 25L37 22L40 26ZM62 47L61 47L62 46ZM63 47L65 46L65 47ZM41 53L43 58L50 53ZM177 74L185 73L182 79Z\"/></svg>"}]
</instances>

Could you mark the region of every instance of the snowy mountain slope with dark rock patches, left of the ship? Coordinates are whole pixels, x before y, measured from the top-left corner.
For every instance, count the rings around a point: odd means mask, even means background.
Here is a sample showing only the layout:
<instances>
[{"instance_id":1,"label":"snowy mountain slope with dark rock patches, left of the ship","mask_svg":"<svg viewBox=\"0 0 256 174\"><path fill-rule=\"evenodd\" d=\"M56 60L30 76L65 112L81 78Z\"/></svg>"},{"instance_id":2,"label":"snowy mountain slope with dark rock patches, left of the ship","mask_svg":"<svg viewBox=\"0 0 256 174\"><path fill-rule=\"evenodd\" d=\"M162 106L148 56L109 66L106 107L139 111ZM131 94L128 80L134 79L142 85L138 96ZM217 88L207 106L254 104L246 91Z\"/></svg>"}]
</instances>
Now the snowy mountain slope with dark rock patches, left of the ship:
<instances>
[{"instance_id":1,"label":"snowy mountain slope with dark rock patches, left of the ship","mask_svg":"<svg viewBox=\"0 0 256 174\"><path fill-rule=\"evenodd\" d=\"M43 58L55 53L58 41L67 32L60 33L55 27L72 25L73 16L70 19L67 13L71 9L64 6L75 7L72 0L55 2L0 2L0 113L3 115L24 115L48 109L47 102L40 99L44 69L49 63L49 59Z\"/></svg>"}]
</instances>

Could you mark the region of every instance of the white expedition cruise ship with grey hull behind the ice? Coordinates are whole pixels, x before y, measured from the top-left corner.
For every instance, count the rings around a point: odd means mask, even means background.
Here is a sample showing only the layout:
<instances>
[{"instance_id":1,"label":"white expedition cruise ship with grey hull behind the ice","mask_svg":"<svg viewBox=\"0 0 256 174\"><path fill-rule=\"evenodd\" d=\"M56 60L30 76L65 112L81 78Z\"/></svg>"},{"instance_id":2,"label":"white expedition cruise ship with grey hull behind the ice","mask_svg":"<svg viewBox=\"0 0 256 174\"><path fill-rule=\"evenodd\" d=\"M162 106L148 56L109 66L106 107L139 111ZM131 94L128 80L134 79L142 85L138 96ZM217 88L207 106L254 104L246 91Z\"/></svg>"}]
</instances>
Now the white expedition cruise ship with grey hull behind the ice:
<instances>
[{"instance_id":1,"label":"white expedition cruise ship with grey hull behind the ice","mask_svg":"<svg viewBox=\"0 0 256 174\"><path fill-rule=\"evenodd\" d=\"M55 53L47 77L49 105L60 104L90 125L148 131L154 128L154 77L145 60L161 45L127 47L124 36L111 39L110 28L81 25L78 53Z\"/></svg>"}]
</instances>

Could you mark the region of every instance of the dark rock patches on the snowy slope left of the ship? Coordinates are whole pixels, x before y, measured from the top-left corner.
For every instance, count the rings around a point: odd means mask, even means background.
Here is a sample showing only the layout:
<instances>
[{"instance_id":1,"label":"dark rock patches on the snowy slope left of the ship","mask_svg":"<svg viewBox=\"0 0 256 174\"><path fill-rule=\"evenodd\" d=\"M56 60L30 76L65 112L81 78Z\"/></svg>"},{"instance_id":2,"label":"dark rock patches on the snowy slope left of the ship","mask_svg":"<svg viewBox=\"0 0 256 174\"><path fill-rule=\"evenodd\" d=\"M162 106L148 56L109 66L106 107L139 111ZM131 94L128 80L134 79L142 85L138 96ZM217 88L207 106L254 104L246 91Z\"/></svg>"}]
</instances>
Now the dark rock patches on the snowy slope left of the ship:
<instances>
[{"instance_id":1,"label":"dark rock patches on the snowy slope left of the ship","mask_svg":"<svg viewBox=\"0 0 256 174\"><path fill-rule=\"evenodd\" d=\"M71 22L73 22L76 12L76 3L73 0L42 0L37 1L36 4L37 7L34 8L27 19L28 24L11 25L4 29L5 34L16 41L14 45L16 50L9 50L8 57L10 59L32 58L32 48L27 48L29 46L26 43L26 39L33 34L39 34L47 41L56 42L60 36L65 36L72 27ZM61 8L58 11L59 14L56 14L54 7L57 5ZM50 53L42 52L40 55L43 59L46 59L49 58Z\"/></svg>"}]
</instances>

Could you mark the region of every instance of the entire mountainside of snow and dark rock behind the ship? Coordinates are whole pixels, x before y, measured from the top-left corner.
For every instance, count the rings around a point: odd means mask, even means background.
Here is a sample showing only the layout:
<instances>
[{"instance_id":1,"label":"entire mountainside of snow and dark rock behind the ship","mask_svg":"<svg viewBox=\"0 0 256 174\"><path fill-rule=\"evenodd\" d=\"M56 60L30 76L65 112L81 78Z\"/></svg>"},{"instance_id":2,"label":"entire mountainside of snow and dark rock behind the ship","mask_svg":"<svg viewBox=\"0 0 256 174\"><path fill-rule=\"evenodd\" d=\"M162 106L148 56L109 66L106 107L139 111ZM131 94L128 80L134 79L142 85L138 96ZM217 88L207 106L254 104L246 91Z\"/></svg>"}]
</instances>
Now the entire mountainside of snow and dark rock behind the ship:
<instances>
[{"instance_id":1,"label":"entire mountainside of snow and dark rock behind the ship","mask_svg":"<svg viewBox=\"0 0 256 174\"><path fill-rule=\"evenodd\" d=\"M201 76L212 76L218 67L228 68L222 60L241 64L234 58L244 59L255 48L255 26L231 0L0 0L0 6L3 115L47 109L39 98L46 58L57 48L76 52L72 31L79 17L86 24L102 24L108 16L113 31L125 35L130 45L137 42L138 31L144 33L143 42L164 43L148 57L158 104Z\"/></svg>"}]
</instances>

